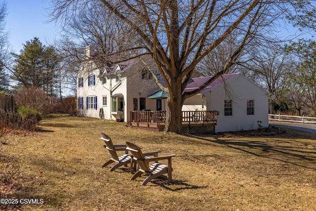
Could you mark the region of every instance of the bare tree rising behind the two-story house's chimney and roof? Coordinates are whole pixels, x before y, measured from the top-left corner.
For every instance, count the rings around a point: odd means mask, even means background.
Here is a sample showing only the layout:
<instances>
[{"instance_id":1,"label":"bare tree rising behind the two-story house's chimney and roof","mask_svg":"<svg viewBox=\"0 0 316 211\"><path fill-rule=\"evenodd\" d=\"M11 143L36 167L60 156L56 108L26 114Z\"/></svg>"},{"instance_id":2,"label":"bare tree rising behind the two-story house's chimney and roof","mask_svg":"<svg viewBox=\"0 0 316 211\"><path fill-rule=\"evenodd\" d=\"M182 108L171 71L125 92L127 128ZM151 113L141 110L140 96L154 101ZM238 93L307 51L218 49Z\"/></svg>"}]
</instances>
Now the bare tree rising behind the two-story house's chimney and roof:
<instances>
[{"instance_id":1,"label":"bare tree rising behind the two-story house's chimney and roof","mask_svg":"<svg viewBox=\"0 0 316 211\"><path fill-rule=\"evenodd\" d=\"M59 5L59 2L55 3ZM67 88L76 92L80 65L92 59L84 56L84 47L93 46L93 60L102 69L103 66L124 58L111 55L116 52L127 52L125 49L130 45L129 36L132 36L133 32L98 0L73 3L77 6L76 15L67 20L60 19L63 34L55 45L62 57L60 81L63 83L60 84L65 84Z\"/></svg>"}]
</instances>

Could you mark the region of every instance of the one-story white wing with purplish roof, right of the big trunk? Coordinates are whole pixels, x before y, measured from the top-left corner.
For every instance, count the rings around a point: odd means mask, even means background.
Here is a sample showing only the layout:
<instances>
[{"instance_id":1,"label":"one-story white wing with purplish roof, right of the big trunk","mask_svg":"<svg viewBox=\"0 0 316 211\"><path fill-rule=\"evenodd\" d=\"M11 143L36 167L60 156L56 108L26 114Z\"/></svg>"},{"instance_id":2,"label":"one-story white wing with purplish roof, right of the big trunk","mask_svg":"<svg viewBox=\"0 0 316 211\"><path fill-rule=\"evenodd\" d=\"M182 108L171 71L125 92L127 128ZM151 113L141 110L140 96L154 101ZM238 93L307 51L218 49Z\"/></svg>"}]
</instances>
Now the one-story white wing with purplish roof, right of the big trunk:
<instances>
[{"instance_id":1,"label":"one-story white wing with purplish roof, right of the big trunk","mask_svg":"<svg viewBox=\"0 0 316 211\"><path fill-rule=\"evenodd\" d=\"M185 91L196 89L210 77L192 79ZM216 132L268 127L268 92L241 74L223 75L199 94L188 98L182 110L215 110Z\"/></svg>"}]
</instances>

